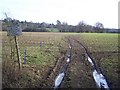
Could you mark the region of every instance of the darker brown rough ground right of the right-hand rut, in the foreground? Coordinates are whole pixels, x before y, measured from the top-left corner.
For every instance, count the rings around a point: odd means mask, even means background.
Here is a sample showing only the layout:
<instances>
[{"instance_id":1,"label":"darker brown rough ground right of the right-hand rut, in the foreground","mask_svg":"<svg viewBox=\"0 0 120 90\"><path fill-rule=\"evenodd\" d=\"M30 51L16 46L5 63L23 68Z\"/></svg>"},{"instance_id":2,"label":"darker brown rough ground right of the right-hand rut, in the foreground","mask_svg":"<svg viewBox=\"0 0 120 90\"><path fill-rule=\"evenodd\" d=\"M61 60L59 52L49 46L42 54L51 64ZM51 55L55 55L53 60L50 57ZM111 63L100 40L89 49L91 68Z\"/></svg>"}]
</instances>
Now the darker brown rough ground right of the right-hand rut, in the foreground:
<instances>
[{"instance_id":1,"label":"darker brown rough ground right of the right-hand rut, in the foreground","mask_svg":"<svg viewBox=\"0 0 120 90\"><path fill-rule=\"evenodd\" d=\"M95 52L91 56L106 76L110 88L120 88L118 52Z\"/></svg>"}]
</instances>

